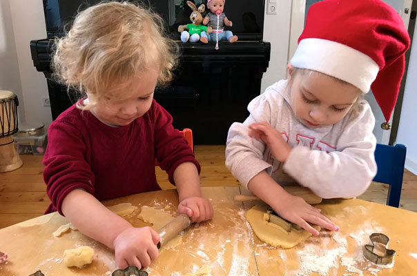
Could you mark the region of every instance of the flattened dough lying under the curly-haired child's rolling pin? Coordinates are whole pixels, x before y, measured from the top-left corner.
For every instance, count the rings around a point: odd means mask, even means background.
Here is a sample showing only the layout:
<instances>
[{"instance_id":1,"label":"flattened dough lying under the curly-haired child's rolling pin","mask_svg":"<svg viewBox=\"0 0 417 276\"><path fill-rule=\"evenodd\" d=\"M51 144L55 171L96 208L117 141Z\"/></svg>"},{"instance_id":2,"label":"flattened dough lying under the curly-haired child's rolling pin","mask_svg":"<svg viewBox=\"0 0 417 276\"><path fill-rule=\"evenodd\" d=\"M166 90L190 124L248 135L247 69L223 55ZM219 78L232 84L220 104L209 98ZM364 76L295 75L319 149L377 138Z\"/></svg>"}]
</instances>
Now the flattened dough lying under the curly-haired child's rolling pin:
<instances>
[{"instance_id":1,"label":"flattened dough lying under the curly-haired child's rolling pin","mask_svg":"<svg viewBox=\"0 0 417 276\"><path fill-rule=\"evenodd\" d=\"M137 216L138 219L142 219L144 222L148 224L152 224L153 230L157 231L168 224L169 221L173 220L174 217L169 213L166 213L164 210L159 210L153 207L143 206L142 210L140 211L139 215ZM167 242L162 248L159 250L159 253L168 249L168 248L175 248L175 246L182 243L182 236L177 236L171 241Z\"/></svg>"}]
</instances>

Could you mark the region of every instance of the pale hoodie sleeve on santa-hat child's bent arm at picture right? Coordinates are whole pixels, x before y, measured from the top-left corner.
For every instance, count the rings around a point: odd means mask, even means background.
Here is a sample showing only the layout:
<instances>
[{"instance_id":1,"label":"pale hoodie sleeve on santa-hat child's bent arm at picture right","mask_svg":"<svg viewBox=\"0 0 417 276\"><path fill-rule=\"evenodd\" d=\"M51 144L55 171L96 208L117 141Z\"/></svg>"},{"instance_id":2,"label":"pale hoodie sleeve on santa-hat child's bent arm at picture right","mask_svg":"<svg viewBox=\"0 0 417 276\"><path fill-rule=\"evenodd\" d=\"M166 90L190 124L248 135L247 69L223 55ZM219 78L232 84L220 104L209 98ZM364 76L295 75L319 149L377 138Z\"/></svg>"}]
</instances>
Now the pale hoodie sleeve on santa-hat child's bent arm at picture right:
<instances>
[{"instance_id":1,"label":"pale hoodie sleeve on santa-hat child's bent arm at picture right","mask_svg":"<svg viewBox=\"0 0 417 276\"><path fill-rule=\"evenodd\" d=\"M324 152L295 146L284 164L284 171L302 186L323 198L351 198L367 190L376 175L372 133L375 118L368 103L342 126L336 151Z\"/></svg>"}]
</instances>

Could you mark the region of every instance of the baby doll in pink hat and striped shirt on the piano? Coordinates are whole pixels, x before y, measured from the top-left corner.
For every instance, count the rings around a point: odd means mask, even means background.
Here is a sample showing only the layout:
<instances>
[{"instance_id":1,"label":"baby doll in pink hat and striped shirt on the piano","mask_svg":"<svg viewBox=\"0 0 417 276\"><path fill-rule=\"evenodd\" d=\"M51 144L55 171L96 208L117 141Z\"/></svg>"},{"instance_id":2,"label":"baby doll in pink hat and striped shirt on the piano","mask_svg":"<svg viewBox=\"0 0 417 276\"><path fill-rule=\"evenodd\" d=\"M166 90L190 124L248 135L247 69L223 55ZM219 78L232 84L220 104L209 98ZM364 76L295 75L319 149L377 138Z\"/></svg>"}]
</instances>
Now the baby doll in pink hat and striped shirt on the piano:
<instances>
[{"instance_id":1,"label":"baby doll in pink hat and striped shirt on the piano","mask_svg":"<svg viewBox=\"0 0 417 276\"><path fill-rule=\"evenodd\" d=\"M232 21L227 19L224 14L224 3L225 0L207 0L207 8L210 12L206 15L203 20L203 24L211 26L213 32L209 34L209 41L216 41L216 49L218 48L218 41L229 40L230 43L237 41L237 36L233 35L230 30L224 30L224 26L231 27Z\"/></svg>"}]
</instances>

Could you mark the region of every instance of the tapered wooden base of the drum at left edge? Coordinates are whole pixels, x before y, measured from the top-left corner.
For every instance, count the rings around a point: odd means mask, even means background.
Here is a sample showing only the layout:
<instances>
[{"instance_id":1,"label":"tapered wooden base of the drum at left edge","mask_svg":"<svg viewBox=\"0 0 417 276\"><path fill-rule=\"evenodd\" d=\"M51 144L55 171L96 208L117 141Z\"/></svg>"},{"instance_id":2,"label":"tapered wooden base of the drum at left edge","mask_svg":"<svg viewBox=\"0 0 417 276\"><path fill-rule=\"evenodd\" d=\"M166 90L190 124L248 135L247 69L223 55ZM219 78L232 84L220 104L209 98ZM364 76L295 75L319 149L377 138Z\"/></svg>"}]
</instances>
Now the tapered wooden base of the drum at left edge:
<instances>
[{"instance_id":1,"label":"tapered wooden base of the drum at left edge","mask_svg":"<svg viewBox=\"0 0 417 276\"><path fill-rule=\"evenodd\" d=\"M0 138L0 145L3 145L0 146L0 172L10 172L20 168L23 162L17 153L13 136Z\"/></svg>"}]
</instances>

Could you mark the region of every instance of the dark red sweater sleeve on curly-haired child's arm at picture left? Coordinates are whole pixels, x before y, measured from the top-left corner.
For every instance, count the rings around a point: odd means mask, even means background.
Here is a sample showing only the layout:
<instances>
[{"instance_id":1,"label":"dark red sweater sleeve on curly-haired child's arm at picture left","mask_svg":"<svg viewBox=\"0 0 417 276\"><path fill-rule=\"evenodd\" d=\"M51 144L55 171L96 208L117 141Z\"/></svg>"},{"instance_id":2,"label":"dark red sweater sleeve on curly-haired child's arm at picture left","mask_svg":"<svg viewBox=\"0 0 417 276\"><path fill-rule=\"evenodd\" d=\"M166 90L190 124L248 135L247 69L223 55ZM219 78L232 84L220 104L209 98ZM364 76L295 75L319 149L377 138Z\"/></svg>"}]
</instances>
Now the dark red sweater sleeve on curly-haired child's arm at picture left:
<instances>
[{"instance_id":1,"label":"dark red sweater sleeve on curly-haired child's arm at picture left","mask_svg":"<svg viewBox=\"0 0 417 276\"><path fill-rule=\"evenodd\" d=\"M48 147L43 157L43 180L52 205L62 214L62 201L77 188L94 195L95 177L86 161L86 141L81 132L63 121L48 128Z\"/></svg>"}]
</instances>

